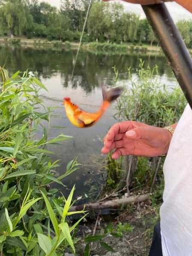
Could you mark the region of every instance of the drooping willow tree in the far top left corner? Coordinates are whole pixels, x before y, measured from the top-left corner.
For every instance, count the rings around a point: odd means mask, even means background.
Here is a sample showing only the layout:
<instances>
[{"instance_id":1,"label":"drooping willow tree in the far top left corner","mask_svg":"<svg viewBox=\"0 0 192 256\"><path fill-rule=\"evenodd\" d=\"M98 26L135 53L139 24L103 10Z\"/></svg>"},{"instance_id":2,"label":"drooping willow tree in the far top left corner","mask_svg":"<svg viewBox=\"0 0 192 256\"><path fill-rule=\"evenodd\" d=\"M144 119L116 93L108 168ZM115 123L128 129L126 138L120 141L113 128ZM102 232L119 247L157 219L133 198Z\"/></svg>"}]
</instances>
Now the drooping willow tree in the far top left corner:
<instances>
[{"instance_id":1,"label":"drooping willow tree in the far top left corner","mask_svg":"<svg viewBox=\"0 0 192 256\"><path fill-rule=\"evenodd\" d=\"M12 37L21 35L24 29L31 26L32 16L28 12L25 0L3 0L1 6L3 20Z\"/></svg>"}]
</instances>

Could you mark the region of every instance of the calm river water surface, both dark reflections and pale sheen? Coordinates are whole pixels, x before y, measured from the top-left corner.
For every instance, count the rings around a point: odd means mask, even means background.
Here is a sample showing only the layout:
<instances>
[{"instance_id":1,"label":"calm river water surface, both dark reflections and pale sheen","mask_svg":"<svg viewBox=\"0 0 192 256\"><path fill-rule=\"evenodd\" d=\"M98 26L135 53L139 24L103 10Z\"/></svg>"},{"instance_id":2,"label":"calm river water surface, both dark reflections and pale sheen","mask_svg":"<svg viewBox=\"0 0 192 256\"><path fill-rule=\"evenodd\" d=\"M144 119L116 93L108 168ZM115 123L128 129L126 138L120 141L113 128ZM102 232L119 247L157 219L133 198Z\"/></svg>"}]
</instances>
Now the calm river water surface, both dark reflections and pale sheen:
<instances>
[{"instance_id":1,"label":"calm river water surface, both dark reflections and pale sheen","mask_svg":"<svg viewBox=\"0 0 192 256\"><path fill-rule=\"evenodd\" d=\"M78 161L83 166L67 177L64 183L69 187L76 183L76 195L80 195L89 191L90 186L87 182L91 181L98 186L101 182L98 173L102 165L95 163L95 160L101 157L102 138L108 128L116 122L113 118L115 106L112 105L93 127L79 129L71 125L66 118L62 105L63 97L70 96L73 102L86 111L96 111L102 102L101 85L103 82L111 84L113 81L113 67L119 70L119 83L128 83L127 68L131 66L137 76L135 70L140 58L145 61L145 67L147 65L154 67L155 64L159 66L159 78L164 84L174 85L176 82L163 56L88 51L79 53L72 81L75 56L76 50L0 45L1 66L6 62L6 69L11 74L17 70L37 71L39 79L49 90L49 92L41 92L44 95L45 105L57 107L49 125L49 137L61 133L74 137L73 140L66 141L61 146L52 146L51 149L55 151L52 158L61 159L61 167L57 169L58 175L61 175L65 172L67 163L78 156ZM47 124L44 125L47 126ZM55 128L55 126L65 128ZM58 184L55 186L65 190Z\"/></svg>"}]
</instances>

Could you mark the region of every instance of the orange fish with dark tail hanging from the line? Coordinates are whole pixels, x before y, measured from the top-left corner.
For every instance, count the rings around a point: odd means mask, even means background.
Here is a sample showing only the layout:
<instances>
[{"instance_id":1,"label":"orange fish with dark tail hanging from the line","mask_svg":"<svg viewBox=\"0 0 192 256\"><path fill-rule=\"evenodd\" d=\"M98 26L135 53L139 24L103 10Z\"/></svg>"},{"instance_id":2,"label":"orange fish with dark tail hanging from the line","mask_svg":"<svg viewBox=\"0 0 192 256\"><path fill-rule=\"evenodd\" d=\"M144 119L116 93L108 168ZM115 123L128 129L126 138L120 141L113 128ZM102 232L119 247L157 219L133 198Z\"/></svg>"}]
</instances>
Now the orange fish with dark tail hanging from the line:
<instances>
[{"instance_id":1,"label":"orange fish with dark tail hanging from the line","mask_svg":"<svg viewBox=\"0 0 192 256\"><path fill-rule=\"evenodd\" d=\"M103 103L99 110L95 113L89 113L83 111L79 106L72 103L70 98L64 98L63 104L65 106L66 115L70 122L79 128L86 128L94 125L109 107L110 103L116 100L122 93L122 87L116 87L106 91L105 87L102 87Z\"/></svg>"}]
</instances>

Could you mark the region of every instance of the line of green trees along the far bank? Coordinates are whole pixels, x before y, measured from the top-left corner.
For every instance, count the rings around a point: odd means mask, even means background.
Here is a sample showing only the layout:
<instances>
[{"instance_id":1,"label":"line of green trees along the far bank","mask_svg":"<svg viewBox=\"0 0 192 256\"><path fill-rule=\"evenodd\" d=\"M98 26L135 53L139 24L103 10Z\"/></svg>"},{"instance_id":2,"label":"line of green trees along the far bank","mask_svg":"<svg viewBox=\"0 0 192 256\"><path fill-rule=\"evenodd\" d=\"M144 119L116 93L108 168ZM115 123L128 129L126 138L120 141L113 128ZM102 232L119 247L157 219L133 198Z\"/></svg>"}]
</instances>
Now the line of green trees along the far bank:
<instances>
[{"instance_id":1,"label":"line of green trees along the far bank","mask_svg":"<svg viewBox=\"0 0 192 256\"><path fill-rule=\"evenodd\" d=\"M0 0L0 36L79 41L88 6L89 0L61 0L60 9L38 0ZM180 20L177 27L187 47L191 48L192 20ZM101 0L92 1L83 41L158 44L146 19L124 12L120 3Z\"/></svg>"}]
</instances>

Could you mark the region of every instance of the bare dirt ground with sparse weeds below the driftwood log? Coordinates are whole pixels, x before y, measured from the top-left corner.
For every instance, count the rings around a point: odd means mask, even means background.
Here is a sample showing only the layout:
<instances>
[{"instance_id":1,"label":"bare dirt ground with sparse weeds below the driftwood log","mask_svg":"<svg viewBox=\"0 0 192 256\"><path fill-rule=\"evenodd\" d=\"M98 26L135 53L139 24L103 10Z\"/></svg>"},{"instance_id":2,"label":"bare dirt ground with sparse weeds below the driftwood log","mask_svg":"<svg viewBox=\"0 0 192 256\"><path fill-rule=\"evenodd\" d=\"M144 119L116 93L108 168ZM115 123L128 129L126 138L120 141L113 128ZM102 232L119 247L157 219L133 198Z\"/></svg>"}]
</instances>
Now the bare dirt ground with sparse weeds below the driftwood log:
<instances>
[{"instance_id":1,"label":"bare dirt ground with sparse weeds below the driftwood log","mask_svg":"<svg viewBox=\"0 0 192 256\"><path fill-rule=\"evenodd\" d=\"M133 227L131 232L124 232L123 237L114 237L110 234L103 239L105 243L110 245L115 252L119 252L121 256L148 256L151 246L154 225L158 221L158 209L151 206L150 202L140 204L130 204L127 209L119 212L119 215L114 215L113 220L106 220L106 216L99 217L99 222L96 227L96 235L102 234L108 223L112 222L116 227L119 222L122 224L130 224ZM96 221L84 223L80 229L85 235L93 235L93 230ZM84 255L84 245L79 245L76 250L76 255ZM103 249L99 242L94 242L90 246L90 256L104 256L107 250ZM113 255L113 254L112 254Z\"/></svg>"}]
</instances>

